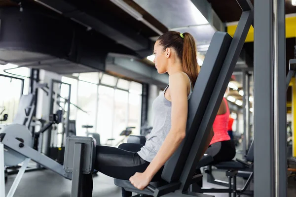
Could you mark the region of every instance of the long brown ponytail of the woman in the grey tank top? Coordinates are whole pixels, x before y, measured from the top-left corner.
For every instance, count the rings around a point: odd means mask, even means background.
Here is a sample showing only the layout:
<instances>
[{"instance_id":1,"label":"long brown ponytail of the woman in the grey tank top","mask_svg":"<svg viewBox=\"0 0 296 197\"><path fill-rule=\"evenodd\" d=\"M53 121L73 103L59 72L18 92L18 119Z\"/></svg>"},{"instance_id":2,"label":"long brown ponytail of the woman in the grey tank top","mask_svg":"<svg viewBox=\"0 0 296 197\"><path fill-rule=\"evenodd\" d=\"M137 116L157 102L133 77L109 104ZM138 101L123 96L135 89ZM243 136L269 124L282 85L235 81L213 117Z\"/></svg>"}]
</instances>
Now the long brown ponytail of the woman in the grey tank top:
<instances>
[{"instance_id":1,"label":"long brown ponytail of the woman in the grey tank top","mask_svg":"<svg viewBox=\"0 0 296 197\"><path fill-rule=\"evenodd\" d=\"M190 33L183 33L184 45L182 64L185 73L189 76L193 86L196 82L200 67L197 63L196 45L193 36Z\"/></svg>"}]
</instances>

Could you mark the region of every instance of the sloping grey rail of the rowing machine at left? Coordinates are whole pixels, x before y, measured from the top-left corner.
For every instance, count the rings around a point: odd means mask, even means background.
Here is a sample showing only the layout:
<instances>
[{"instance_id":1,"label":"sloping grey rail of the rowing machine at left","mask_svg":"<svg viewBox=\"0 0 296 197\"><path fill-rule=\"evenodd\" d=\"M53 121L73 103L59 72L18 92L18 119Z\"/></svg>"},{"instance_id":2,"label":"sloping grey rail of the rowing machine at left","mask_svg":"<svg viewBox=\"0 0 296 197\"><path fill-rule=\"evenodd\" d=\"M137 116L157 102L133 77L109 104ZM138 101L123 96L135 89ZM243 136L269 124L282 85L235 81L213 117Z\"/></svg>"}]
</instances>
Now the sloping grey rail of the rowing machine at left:
<instances>
[{"instance_id":1,"label":"sloping grey rail of the rowing machine at left","mask_svg":"<svg viewBox=\"0 0 296 197\"><path fill-rule=\"evenodd\" d=\"M20 141L15 139L14 137L11 137L8 134L6 134L2 140L2 143L5 146L13 149L14 151L24 155L25 157L30 158L34 162L41 164L45 168L50 169L53 172L56 172L67 179L72 179L72 174L66 173L63 168L63 165L50 159L44 154L38 153L37 150L31 148L30 146L27 146L26 144L24 144L24 147L20 148L19 147Z\"/></svg>"}]
</instances>

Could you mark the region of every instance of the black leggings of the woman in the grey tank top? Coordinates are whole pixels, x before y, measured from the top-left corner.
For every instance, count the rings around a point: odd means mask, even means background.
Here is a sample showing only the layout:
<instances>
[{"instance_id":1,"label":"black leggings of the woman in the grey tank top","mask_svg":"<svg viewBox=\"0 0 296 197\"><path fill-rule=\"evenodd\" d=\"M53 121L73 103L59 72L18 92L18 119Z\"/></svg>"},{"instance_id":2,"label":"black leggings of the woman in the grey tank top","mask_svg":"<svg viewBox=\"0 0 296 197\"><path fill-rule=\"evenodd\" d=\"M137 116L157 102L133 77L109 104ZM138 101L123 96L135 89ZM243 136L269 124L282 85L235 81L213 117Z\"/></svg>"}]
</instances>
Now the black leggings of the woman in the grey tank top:
<instances>
[{"instance_id":1,"label":"black leggings of the woman in the grey tank top","mask_svg":"<svg viewBox=\"0 0 296 197\"><path fill-rule=\"evenodd\" d=\"M136 172L144 172L149 162L143 160L138 151L143 145L125 143L118 148L111 146L97 146L94 168L107 176L129 180ZM124 150L123 150L124 149ZM153 181L161 179L162 169L153 177ZM92 175L83 175L81 197L92 197Z\"/></svg>"}]
</instances>

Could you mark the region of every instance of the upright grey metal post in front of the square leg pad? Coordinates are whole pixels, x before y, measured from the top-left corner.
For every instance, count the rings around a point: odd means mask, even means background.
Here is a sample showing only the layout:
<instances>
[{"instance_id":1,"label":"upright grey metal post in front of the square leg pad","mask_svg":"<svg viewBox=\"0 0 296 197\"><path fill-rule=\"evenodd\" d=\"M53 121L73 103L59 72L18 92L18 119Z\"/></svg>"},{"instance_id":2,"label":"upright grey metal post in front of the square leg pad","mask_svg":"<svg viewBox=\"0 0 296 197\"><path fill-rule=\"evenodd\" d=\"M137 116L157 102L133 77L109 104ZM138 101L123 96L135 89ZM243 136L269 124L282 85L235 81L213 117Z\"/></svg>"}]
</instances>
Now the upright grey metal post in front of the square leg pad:
<instances>
[{"instance_id":1,"label":"upright grey metal post in front of the square leg pad","mask_svg":"<svg viewBox=\"0 0 296 197\"><path fill-rule=\"evenodd\" d=\"M75 143L74 145L74 159L73 159L73 179L71 197L80 197L81 193L81 175L82 175L82 143Z\"/></svg>"}]
</instances>

